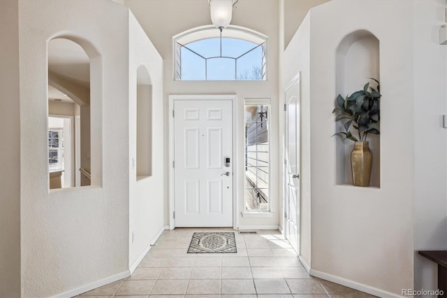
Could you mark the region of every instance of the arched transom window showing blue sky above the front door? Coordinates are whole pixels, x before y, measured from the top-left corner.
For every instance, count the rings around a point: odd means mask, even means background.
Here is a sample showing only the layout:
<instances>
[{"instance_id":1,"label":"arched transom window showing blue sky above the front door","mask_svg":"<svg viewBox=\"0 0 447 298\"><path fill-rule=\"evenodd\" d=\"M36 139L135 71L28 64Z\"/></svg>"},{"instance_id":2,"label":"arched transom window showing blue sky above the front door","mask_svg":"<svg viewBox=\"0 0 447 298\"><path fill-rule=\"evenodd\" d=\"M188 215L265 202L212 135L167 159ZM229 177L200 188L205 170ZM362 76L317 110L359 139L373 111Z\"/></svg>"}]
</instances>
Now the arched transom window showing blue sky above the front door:
<instances>
[{"instance_id":1,"label":"arched transom window showing blue sky above the front door","mask_svg":"<svg viewBox=\"0 0 447 298\"><path fill-rule=\"evenodd\" d=\"M267 36L213 26L174 36L174 80L266 80Z\"/></svg>"}]
</instances>

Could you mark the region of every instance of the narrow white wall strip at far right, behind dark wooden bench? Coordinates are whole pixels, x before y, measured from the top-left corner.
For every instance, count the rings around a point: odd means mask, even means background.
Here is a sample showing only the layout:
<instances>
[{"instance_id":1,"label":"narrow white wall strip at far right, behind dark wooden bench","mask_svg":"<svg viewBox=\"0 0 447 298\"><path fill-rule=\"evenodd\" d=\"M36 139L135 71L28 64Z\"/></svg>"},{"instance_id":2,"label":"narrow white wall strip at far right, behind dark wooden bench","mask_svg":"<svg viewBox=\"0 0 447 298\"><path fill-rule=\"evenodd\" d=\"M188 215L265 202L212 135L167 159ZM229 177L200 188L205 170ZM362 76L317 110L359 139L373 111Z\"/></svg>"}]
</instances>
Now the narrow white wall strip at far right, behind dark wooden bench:
<instances>
[{"instance_id":1,"label":"narrow white wall strip at far right, behind dark wooden bench","mask_svg":"<svg viewBox=\"0 0 447 298\"><path fill-rule=\"evenodd\" d=\"M445 0L413 3L414 288L437 289L437 265L418 250L447 249L446 45L439 45Z\"/></svg>"}]
</instances>

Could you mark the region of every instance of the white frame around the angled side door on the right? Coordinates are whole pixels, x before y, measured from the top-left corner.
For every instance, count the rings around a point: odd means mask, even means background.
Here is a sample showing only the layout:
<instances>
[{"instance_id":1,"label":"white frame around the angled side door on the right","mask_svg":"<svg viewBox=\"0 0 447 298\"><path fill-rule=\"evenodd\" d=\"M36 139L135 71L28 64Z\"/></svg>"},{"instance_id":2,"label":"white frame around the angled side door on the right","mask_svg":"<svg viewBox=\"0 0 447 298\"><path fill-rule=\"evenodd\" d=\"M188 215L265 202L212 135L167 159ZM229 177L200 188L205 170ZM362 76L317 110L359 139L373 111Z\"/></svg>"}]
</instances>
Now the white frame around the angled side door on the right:
<instances>
[{"instance_id":1,"label":"white frame around the angled side door on the right","mask_svg":"<svg viewBox=\"0 0 447 298\"><path fill-rule=\"evenodd\" d=\"M286 106L287 106L287 97L286 97L286 93L289 89L291 89L291 87L293 85L295 85L295 83L300 84L300 71L298 71L298 73L295 74L295 76L293 76L293 78L288 82L288 84L286 85L286 87L284 88L284 142L283 142L283 161L282 162L282 166L283 166L283 230L284 230L284 236L287 237L288 234L288 230L287 230L287 216L288 216L288 201L287 201L287 196L288 196L288 190L287 190L287 160L286 160L286 156L287 156L287 133L288 133L288 123L287 123L287 111L286 111ZM300 86L300 93L301 93L301 86ZM301 94L299 94L298 97L298 102L301 106ZM299 127L301 130L301 107L300 107L300 114L298 115L298 120L299 120ZM300 201L300 210L301 210L301 132L299 134L299 138L298 138L298 143L300 146L300 168L298 169L298 173L300 173L300 178L298 179L298 196L299 196L299 201ZM301 214L301 213L300 213ZM300 233L300 239L301 239L301 216L299 215L298 217L298 231ZM298 243L298 250L296 253L298 255L301 255L301 245L300 243Z\"/></svg>"}]
</instances>

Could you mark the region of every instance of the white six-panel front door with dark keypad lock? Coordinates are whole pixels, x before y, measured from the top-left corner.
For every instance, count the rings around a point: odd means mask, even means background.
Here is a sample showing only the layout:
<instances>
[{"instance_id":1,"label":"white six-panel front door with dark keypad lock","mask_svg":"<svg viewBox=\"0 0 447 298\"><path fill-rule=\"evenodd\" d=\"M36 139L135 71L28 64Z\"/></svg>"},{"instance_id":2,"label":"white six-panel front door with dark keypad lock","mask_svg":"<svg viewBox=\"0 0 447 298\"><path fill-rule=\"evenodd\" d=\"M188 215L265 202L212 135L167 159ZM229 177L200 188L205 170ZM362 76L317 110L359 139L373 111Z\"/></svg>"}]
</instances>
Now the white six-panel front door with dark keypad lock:
<instances>
[{"instance_id":1,"label":"white six-panel front door with dark keypad lock","mask_svg":"<svg viewBox=\"0 0 447 298\"><path fill-rule=\"evenodd\" d=\"M233 226L230 100L174 101L175 227Z\"/></svg>"}]
</instances>

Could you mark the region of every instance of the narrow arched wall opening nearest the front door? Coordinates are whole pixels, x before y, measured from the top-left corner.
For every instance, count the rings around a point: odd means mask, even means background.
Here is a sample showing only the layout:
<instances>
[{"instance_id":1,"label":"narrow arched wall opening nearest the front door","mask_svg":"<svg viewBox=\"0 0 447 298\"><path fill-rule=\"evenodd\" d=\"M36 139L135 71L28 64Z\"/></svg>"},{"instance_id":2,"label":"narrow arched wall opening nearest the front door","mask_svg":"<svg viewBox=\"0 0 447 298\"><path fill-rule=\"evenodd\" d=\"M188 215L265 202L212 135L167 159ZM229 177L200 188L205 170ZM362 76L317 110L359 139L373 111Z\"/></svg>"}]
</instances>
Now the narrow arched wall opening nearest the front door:
<instances>
[{"instance_id":1,"label":"narrow arched wall opening nearest the front door","mask_svg":"<svg viewBox=\"0 0 447 298\"><path fill-rule=\"evenodd\" d=\"M137 180L152 176L152 84L144 65L137 69Z\"/></svg>"}]
</instances>

